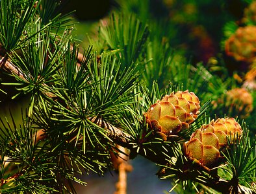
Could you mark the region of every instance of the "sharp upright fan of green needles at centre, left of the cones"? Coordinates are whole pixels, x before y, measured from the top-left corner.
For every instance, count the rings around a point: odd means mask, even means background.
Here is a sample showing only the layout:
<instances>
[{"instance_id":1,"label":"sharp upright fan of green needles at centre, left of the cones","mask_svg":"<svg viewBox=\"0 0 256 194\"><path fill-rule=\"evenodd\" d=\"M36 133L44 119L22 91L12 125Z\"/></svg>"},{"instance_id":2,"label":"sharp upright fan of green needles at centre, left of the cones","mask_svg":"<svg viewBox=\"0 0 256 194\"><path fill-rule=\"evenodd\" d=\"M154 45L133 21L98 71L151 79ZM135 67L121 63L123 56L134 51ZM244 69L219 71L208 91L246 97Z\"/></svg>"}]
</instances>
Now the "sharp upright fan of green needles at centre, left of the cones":
<instances>
[{"instance_id":1,"label":"sharp upright fan of green needles at centre, left of the cones","mask_svg":"<svg viewBox=\"0 0 256 194\"><path fill-rule=\"evenodd\" d=\"M95 60L88 67L92 83L94 111L101 117L122 112L132 103L133 90L139 82L138 64L122 68L122 63L113 54L103 54L100 63Z\"/></svg>"}]
</instances>

